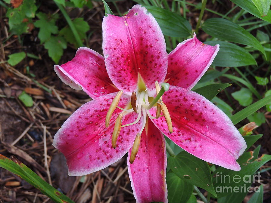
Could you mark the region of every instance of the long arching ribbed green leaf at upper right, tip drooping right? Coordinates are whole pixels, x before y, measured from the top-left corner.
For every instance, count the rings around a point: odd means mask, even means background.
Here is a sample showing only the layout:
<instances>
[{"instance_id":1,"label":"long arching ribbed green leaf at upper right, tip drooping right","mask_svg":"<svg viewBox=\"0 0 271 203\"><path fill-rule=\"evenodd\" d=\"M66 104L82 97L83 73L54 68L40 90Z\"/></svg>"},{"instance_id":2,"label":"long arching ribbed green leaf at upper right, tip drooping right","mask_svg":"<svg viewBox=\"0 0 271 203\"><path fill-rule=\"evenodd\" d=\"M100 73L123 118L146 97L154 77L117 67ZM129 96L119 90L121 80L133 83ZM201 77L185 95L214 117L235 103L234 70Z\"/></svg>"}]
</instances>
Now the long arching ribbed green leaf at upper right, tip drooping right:
<instances>
[{"instance_id":1,"label":"long arching ribbed green leaf at upper right, tip drooping right","mask_svg":"<svg viewBox=\"0 0 271 203\"><path fill-rule=\"evenodd\" d=\"M262 52L266 57L263 46L260 44L260 42L236 23L222 18L210 18L202 24L202 29L204 32L213 37L251 46Z\"/></svg>"}]
</instances>

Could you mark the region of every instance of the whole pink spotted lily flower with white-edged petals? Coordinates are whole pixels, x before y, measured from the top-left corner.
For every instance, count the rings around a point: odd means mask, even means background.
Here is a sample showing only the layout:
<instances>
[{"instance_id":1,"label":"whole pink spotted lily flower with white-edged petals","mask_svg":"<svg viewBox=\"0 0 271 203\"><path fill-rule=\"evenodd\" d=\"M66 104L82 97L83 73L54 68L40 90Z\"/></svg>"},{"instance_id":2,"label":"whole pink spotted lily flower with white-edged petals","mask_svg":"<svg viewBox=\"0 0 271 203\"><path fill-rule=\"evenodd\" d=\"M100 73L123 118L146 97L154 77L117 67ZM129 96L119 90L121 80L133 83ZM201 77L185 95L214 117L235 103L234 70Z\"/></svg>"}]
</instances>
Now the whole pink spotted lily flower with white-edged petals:
<instances>
[{"instance_id":1,"label":"whole pink spotted lily flower with white-edged petals","mask_svg":"<svg viewBox=\"0 0 271 203\"><path fill-rule=\"evenodd\" d=\"M104 57L81 47L71 61L54 66L65 84L93 98L54 137L69 175L101 170L128 152L136 201L168 202L163 134L204 161L240 170L236 159L245 140L225 113L190 91L219 45L194 34L167 54L159 25L140 5L123 17L104 17L102 28Z\"/></svg>"}]
</instances>

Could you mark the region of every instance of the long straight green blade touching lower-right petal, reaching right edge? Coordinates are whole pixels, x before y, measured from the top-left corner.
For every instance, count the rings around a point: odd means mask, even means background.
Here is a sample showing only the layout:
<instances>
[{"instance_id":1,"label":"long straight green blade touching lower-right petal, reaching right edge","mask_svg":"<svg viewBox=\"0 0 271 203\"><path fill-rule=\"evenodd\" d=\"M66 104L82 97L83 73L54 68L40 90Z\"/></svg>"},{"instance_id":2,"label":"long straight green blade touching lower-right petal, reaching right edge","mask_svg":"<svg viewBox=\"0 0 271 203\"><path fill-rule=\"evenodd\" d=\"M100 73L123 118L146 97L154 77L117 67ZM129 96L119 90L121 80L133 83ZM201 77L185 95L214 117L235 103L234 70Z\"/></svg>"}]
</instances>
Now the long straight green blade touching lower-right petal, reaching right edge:
<instances>
[{"instance_id":1,"label":"long straight green blade touching lower-right petal, reaching right edge","mask_svg":"<svg viewBox=\"0 0 271 203\"><path fill-rule=\"evenodd\" d=\"M258 109L262 108L263 106L269 103L271 103L271 95L264 97L263 99L260 99L259 101L249 105L245 109L242 109L241 111L235 113L230 117L230 119L232 120L232 123L236 125L243 119L247 118L249 115L256 112Z\"/></svg>"}]
</instances>

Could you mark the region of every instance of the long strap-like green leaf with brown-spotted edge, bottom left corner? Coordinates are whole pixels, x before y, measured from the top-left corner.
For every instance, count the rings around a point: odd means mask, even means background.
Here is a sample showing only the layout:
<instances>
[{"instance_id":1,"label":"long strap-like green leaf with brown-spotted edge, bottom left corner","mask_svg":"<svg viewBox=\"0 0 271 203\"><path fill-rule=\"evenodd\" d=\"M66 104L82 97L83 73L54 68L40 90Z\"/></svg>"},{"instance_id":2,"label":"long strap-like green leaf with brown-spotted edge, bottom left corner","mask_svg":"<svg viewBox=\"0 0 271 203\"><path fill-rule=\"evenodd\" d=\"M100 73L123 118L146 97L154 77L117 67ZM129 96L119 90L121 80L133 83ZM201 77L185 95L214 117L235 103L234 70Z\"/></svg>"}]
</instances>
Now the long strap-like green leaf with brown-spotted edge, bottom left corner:
<instances>
[{"instance_id":1,"label":"long strap-like green leaf with brown-spotted edge, bottom left corner","mask_svg":"<svg viewBox=\"0 0 271 203\"><path fill-rule=\"evenodd\" d=\"M11 156L12 160L0 154L0 167L5 168L8 171L16 174L17 176L21 177L23 180L26 180L28 183L39 189L43 194L47 195L55 202L63 203L74 203L70 198L66 195L63 195L53 186L46 183L35 174L33 171L30 170L26 165L20 162L18 159Z\"/></svg>"}]
</instances>

